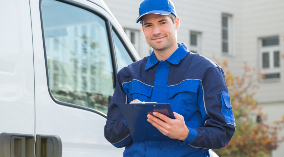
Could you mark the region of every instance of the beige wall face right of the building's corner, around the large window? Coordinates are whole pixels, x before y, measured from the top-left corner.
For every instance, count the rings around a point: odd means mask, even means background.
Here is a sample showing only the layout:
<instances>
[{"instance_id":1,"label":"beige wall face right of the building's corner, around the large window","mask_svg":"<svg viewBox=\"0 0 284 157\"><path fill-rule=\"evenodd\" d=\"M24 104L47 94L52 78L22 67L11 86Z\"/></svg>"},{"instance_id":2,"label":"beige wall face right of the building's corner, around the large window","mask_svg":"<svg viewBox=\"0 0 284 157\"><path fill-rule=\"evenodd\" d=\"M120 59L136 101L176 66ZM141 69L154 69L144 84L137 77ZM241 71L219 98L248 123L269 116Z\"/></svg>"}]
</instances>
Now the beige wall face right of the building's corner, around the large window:
<instances>
[{"instance_id":1,"label":"beige wall face right of the building's corner, around the large window","mask_svg":"<svg viewBox=\"0 0 284 157\"><path fill-rule=\"evenodd\" d=\"M250 66L259 65L258 40L263 37L279 36L280 54L284 54L284 1L283 0L242 0L242 60ZM268 114L266 123L280 120L284 115L284 59L280 59L280 79L262 81L254 99ZM284 131L280 132L284 136ZM284 154L284 143L272 153L274 157Z\"/></svg>"}]
</instances>

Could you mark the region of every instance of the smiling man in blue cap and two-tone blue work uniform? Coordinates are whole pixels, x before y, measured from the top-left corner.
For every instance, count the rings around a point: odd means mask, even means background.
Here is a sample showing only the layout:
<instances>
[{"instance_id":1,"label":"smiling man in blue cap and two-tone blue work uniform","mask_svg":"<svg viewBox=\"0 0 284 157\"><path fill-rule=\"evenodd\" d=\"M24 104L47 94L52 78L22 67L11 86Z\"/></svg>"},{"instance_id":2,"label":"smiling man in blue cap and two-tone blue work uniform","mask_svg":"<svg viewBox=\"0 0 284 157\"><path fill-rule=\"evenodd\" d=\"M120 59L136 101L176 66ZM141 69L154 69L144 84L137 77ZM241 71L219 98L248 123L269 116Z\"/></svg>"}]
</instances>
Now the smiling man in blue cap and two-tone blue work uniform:
<instances>
[{"instance_id":1,"label":"smiling man in blue cap and two-tone blue work uniform","mask_svg":"<svg viewBox=\"0 0 284 157\"><path fill-rule=\"evenodd\" d=\"M224 72L177 43L179 18L170 0L144 0L139 14L136 23L154 51L118 72L105 138L125 147L124 156L210 156L208 149L224 147L235 132ZM153 112L147 121L178 140L133 141L117 106L132 101L170 103L176 119Z\"/></svg>"}]
</instances>

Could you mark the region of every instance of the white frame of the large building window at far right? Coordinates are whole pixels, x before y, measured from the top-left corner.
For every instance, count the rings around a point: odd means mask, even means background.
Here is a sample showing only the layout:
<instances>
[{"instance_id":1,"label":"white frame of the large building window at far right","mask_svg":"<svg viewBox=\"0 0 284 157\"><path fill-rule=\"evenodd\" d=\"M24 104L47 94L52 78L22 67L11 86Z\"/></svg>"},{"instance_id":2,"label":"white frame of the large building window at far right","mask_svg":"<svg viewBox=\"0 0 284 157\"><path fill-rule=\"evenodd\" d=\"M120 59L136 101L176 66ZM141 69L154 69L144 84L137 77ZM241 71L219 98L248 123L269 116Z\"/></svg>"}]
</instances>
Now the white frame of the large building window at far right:
<instances>
[{"instance_id":1,"label":"white frame of the large building window at far right","mask_svg":"<svg viewBox=\"0 0 284 157\"><path fill-rule=\"evenodd\" d=\"M262 46L262 40L265 38L273 38L277 37L279 40L278 45L269 45L269 46ZM274 67L274 52L279 51L279 55L281 54L280 52L280 39L279 35L274 35L274 36L268 36L268 37L260 37L258 38L258 65L260 68L260 72L264 75L266 74L275 74L279 73L280 77L279 78L262 78L262 82L273 82L273 81L280 81L281 79L281 64L279 67ZM269 67L268 68L263 68L263 63L262 63L262 54L268 52L269 54ZM279 56L280 57L280 56ZM280 59L280 58L279 58Z\"/></svg>"}]
</instances>

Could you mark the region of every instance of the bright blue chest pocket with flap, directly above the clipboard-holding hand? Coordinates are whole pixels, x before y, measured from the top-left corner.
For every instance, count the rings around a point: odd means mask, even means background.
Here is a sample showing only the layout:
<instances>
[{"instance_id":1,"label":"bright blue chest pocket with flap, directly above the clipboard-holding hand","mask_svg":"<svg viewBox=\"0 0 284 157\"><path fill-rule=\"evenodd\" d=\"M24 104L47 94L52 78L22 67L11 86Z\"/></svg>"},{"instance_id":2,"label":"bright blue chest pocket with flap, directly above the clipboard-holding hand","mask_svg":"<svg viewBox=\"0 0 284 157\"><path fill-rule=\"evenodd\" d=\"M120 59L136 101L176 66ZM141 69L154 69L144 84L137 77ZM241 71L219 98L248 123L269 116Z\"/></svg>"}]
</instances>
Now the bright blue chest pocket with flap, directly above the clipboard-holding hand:
<instances>
[{"instance_id":1,"label":"bright blue chest pocket with flap, directly above the clipboard-holding hand","mask_svg":"<svg viewBox=\"0 0 284 157\"><path fill-rule=\"evenodd\" d=\"M197 89L199 80L185 80L178 85L170 86L168 101L173 112L177 112L190 120L192 115L198 111Z\"/></svg>"}]
</instances>

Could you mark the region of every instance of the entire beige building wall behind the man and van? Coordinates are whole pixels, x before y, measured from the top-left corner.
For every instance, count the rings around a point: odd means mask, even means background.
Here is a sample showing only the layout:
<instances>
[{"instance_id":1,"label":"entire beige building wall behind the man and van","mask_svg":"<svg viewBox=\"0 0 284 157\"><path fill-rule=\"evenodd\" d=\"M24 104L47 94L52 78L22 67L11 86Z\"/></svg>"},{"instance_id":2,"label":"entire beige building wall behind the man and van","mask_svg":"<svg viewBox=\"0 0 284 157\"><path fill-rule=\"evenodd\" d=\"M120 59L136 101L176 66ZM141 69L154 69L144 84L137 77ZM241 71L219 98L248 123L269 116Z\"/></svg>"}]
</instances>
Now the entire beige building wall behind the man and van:
<instances>
[{"instance_id":1,"label":"entire beige building wall behind the man and van","mask_svg":"<svg viewBox=\"0 0 284 157\"><path fill-rule=\"evenodd\" d=\"M142 33L141 24L135 23L142 0L104 0L123 29L136 30L140 57L149 56L150 47ZM186 43L189 50L190 32L201 34L201 55L212 59L228 60L229 69L240 75L243 62L259 68L258 40L279 36L280 54L284 54L284 1L283 0L172 0L180 18L178 42ZM222 53L222 14L231 15L232 52ZM284 115L284 59L280 61L280 79L262 81L255 99L268 114L272 123ZM284 131L280 133L284 136ZM284 143L273 152L273 157L284 154Z\"/></svg>"}]
</instances>

